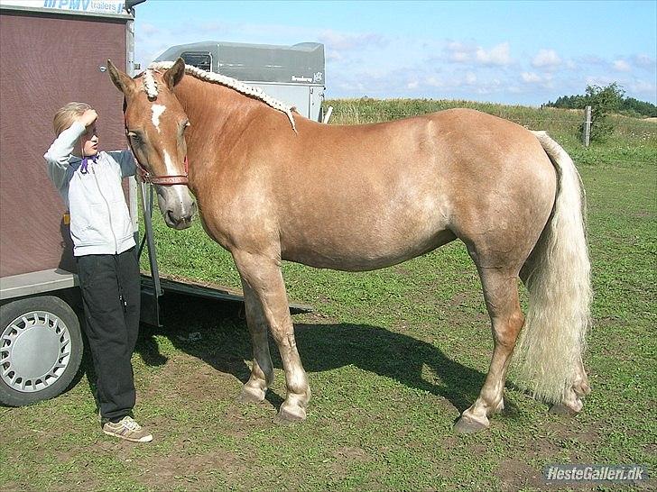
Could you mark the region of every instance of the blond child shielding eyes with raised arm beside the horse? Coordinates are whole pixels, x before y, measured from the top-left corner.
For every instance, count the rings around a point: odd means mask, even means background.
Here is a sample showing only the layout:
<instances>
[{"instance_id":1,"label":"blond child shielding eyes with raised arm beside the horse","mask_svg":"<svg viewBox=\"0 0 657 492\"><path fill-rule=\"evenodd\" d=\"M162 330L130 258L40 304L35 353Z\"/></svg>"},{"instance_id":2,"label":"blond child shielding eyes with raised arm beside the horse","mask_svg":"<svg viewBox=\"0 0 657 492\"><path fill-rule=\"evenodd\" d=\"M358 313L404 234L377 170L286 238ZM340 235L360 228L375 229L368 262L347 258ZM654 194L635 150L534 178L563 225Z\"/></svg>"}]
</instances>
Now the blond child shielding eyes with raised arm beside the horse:
<instances>
[{"instance_id":1,"label":"blond child shielding eyes with raised arm beside the horse","mask_svg":"<svg viewBox=\"0 0 657 492\"><path fill-rule=\"evenodd\" d=\"M97 113L69 103L54 117L57 138L43 156L48 175L69 207L70 237L103 432L150 442L132 418L134 376L130 361L139 332L140 276L122 178L134 176L130 150L98 152Z\"/></svg>"}]
</instances>

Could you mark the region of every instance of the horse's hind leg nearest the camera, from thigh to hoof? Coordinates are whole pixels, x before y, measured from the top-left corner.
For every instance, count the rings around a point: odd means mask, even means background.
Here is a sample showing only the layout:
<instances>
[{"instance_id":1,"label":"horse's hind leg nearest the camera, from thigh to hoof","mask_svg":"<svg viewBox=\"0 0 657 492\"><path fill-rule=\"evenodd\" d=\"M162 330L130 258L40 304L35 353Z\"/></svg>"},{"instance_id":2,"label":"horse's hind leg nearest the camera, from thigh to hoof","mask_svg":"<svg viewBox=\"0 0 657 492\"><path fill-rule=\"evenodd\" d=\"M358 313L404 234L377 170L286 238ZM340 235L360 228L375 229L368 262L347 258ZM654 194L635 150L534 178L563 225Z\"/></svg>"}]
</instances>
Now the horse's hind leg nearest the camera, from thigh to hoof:
<instances>
[{"instance_id":1,"label":"horse's hind leg nearest the camera, from thigh to hoof","mask_svg":"<svg viewBox=\"0 0 657 492\"><path fill-rule=\"evenodd\" d=\"M486 308L493 324L495 349L484 387L474 405L456 424L458 432L471 433L489 426L488 416L504 408L504 381L524 317L518 299L518 272L514 269L477 267Z\"/></svg>"}]
</instances>

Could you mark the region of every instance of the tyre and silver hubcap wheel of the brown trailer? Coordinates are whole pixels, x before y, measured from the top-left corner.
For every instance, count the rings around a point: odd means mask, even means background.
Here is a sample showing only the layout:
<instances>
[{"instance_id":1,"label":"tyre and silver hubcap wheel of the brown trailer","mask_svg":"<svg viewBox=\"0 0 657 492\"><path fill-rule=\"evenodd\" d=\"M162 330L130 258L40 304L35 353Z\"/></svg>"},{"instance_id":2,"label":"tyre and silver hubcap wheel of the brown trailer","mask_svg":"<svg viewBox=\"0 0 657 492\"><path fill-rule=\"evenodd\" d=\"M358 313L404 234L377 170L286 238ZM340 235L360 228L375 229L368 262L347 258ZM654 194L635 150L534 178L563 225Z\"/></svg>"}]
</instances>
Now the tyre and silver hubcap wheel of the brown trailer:
<instances>
[{"instance_id":1,"label":"tyre and silver hubcap wheel of the brown trailer","mask_svg":"<svg viewBox=\"0 0 657 492\"><path fill-rule=\"evenodd\" d=\"M78 316L55 296L0 306L0 402L22 406L60 395L82 360Z\"/></svg>"}]
</instances>

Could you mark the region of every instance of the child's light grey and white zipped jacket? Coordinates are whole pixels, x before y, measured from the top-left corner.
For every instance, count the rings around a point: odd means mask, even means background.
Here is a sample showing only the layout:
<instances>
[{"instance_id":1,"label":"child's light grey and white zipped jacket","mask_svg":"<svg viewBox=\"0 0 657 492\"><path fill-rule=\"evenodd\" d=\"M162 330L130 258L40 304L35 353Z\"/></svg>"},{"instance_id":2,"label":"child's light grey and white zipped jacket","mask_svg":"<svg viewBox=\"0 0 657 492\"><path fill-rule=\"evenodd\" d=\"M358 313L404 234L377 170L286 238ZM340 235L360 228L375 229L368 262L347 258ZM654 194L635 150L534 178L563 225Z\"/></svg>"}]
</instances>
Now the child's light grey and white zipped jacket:
<instances>
[{"instance_id":1,"label":"child's light grey and white zipped jacket","mask_svg":"<svg viewBox=\"0 0 657 492\"><path fill-rule=\"evenodd\" d=\"M125 203L122 179L134 176L130 150L98 152L95 162L71 154L85 126L75 122L43 155L48 176L69 208L73 254L119 254L135 245L133 223Z\"/></svg>"}]
</instances>

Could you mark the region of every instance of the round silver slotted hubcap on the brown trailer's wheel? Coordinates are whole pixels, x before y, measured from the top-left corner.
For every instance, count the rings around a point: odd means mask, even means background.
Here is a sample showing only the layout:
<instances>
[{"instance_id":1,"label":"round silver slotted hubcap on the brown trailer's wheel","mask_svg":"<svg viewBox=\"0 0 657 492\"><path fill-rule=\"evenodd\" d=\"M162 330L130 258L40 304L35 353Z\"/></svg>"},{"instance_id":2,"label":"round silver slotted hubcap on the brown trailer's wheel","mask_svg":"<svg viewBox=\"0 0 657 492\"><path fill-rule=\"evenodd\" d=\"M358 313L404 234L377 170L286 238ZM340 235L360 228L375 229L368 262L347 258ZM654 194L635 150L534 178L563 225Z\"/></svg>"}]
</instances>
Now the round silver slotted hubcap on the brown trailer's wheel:
<instances>
[{"instance_id":1,"label":"round silver slotted hubcap on the brown trailer's wheel","mask_svg":"<svg viewBox=\"0 0 657 492\"><path fill-rule=\"evenodd\" d=\"M70 359L70 333L55 314L32 311L14 319L0 339L0 378L16 391L49 387Z\"/></svg>"}]
</instances>

